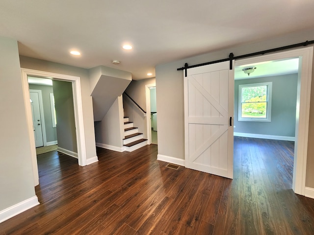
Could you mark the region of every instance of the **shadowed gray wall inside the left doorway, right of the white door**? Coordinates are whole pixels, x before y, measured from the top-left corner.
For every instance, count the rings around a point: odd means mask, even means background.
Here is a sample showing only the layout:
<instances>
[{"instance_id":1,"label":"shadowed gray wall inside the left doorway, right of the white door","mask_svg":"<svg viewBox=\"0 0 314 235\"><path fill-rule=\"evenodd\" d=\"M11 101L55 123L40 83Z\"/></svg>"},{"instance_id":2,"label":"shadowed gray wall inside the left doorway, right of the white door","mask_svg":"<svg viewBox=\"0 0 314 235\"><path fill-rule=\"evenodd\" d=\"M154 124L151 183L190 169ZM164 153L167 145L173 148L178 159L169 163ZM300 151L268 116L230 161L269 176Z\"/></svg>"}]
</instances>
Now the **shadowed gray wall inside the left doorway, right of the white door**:
<instances>
[{"instance_id":1,"label":"shadowed gray wall inside the left doorway, right of the white door","mask_svg":"<svg viewBox=\"0 0 314 235\"><path fill-rule=\"evenodd\" d=\"M72 82L52 81L58 147L78 153Z\"/></svg>"}]
</instances>

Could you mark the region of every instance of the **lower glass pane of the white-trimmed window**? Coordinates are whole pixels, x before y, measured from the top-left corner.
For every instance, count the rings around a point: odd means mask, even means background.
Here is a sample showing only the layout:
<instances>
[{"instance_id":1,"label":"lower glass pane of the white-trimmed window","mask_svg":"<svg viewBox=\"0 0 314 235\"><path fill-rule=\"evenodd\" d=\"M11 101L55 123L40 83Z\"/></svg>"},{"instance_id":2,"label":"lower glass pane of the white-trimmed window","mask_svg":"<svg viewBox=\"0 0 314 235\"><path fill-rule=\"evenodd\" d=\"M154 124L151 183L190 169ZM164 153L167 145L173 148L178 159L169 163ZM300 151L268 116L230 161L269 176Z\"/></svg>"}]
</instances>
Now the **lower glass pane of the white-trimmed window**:
<instances>
[{"instance_id":1,"label":"lower glass pane of the white-trimmed window","mask_svg":"<svg viewBox=\"0 0 314 235\"><path fill-rule=\"evenodd\" d=\"M241 104L242 118L266 118L267 102L252 102Z\"/></svg>"}]
</instances>

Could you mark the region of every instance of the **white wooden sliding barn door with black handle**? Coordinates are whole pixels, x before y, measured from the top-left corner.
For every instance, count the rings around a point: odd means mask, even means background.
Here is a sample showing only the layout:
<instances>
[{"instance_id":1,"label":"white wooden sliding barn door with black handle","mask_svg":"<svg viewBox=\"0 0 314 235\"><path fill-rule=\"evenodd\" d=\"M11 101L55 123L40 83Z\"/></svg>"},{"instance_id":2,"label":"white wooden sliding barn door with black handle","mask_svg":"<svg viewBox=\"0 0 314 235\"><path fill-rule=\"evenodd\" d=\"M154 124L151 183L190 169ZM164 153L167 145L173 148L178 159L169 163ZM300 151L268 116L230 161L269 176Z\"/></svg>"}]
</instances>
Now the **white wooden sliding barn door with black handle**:
<instances>
[{"instance_id":1,"label":"white wooden sliding barn door with black handle","mask_svg":"<svg viewBox=\"0 0 314 235\"><path fill-rule=\"evenodd\" d=\"M188 69L184 77L185 167L233 178L233 117L230 62Z\"/></svg>"}]
</instances>

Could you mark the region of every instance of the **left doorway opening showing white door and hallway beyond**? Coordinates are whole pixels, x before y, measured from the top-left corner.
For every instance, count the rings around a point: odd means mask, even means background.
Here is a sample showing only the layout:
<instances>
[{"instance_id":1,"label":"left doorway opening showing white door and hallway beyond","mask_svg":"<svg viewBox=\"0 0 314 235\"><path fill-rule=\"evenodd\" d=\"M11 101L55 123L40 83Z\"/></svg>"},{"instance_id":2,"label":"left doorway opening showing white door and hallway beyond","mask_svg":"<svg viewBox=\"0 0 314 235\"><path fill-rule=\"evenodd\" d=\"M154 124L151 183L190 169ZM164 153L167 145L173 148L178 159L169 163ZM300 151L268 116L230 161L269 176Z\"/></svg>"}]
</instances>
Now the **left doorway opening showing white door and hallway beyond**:
<instances>
[{"instance_id":1,"label":"left doorway opening showing white door and hallway beyond","mask_svg":"<svg viewBox=\"0 0 314 235\"><path fill-rule=\"evenodd\" d=\"M28 76L28 84L36 154L58 150L78 158L72 83Z\"/></svg>"}]
</instances>

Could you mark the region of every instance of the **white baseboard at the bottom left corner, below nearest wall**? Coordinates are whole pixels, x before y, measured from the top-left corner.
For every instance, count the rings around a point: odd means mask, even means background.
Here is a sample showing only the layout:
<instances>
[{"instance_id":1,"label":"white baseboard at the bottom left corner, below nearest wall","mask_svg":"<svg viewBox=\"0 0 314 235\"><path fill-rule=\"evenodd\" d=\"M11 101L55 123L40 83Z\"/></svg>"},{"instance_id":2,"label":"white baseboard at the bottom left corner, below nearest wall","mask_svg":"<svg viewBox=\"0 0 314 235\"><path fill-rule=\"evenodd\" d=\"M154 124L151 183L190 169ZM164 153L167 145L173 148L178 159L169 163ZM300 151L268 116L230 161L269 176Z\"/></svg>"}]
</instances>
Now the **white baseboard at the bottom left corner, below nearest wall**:
<instances>
[{"instance_id":1,"label":"white baseboard at the bottom left corner, below nearest wall","mask_svg":"<svg viewBox=\"0 0 314 235\"><path fill-rule=\"evenodd\" d=\"M0 211L0 223L12 218L13 216L20 214L36 205L38 205L38 198L37 196L33 196L31 198L26 199L23 202L20 202L18 204L15 204L9 208L6 208L2 211Z\"/></svg>"}]
</instances>

